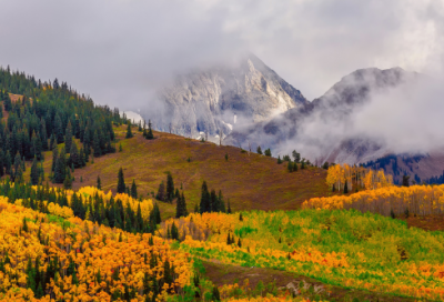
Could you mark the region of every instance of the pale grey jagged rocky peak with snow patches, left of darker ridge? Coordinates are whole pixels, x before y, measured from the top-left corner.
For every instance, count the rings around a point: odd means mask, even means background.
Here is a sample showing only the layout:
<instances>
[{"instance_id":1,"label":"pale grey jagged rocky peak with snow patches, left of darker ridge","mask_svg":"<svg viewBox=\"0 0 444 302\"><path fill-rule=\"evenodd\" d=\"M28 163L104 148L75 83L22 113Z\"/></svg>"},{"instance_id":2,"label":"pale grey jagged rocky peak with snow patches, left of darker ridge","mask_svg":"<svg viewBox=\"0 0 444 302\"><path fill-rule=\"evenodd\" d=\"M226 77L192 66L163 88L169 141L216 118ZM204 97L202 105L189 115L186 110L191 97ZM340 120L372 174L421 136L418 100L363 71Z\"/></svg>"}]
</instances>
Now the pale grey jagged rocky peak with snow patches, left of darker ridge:
<instances>
[{"instance_id":1,"label":"pale grey jagged rocky peak with snow patches, left of darker ridge","mask_svg":"<svg viewBox=\"0 0 444 302\"><path fill-rule=\"evenodd\" d=\"M216 67L176 77L158 93L162 109L142 108L154 128L195 138L216 138L239 125L265 121L289 109L307 104L302 93L255 56L236 67Z\"/></svg>"}]
</instances>

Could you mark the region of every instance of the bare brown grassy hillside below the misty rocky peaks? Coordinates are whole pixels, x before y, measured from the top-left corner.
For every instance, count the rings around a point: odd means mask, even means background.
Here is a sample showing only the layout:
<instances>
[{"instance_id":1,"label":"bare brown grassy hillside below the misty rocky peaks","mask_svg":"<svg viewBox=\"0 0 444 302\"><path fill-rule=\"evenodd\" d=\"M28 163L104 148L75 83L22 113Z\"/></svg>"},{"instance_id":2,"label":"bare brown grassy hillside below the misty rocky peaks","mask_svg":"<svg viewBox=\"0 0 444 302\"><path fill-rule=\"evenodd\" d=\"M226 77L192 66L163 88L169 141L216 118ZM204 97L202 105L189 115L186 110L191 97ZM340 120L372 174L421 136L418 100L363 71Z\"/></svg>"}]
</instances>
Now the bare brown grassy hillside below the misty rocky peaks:
<instances>
[{"instance_id":1,"label":"bare brown grassy hillside below the misty rocky peaks","mask_svg":"<svg viewBox=\"0 0 444 302\"><path fill-rule=\"evenodd\" d=\"M256 153L241 152L234 147L199 142L164 132L154 132L154 140L145 140L140 132L124 139L125 127L114 128L123 151L94 158L82 169L75 169L73 189L97 185L100 175L102 189L115 192L118 172L123 168L127 185L135 180L139 195L158 192L159 184L167 181L170 171L175 188L183 188L188 210L193 212L199 204L202 181L209 189L222 190L225 204L230 199L233 211L299 209L312 197L331 194L325 183L326 171L309 168L289 173L286 164L276 164L276 159ZM225 160L225 154L229 160ZM46 175L51 172L52 153L46 152ZM188 159L191 162L188 162ZM29 179L27 169L24 179ZM81 181L82 180L82 181ZM174 204L160 202L165 217L175 213Z\"/></svg>"}]
</instances>

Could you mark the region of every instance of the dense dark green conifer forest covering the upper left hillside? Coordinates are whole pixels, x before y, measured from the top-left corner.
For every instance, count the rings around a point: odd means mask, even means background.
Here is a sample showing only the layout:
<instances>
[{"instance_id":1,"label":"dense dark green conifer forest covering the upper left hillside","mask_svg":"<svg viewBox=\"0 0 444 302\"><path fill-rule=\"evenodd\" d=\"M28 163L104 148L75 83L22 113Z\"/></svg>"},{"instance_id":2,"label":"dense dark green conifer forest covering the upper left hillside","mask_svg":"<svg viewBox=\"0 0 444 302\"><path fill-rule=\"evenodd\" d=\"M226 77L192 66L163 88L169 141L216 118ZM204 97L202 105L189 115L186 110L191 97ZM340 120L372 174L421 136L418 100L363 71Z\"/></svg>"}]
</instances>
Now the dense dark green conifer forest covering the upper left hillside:
<instances>
[{"instance_id":1,"label":"dense dark green conifer forest covering the upper left hillside","mask_svg":"<svg viewBox=\"0 0 444 302\"><path fill-rule=\"evenodd\" d=\"M9 92L23 98L11 102ZM79 94L65 82L59 84L56 79L42 83L9 68L0 68L0 101L8 112L8 121L0 123L0 174L16 175L17 171L10 169L16 159L42 161L42 152L53 150L58 143L64 143L65 154L73 153L65 159L70 167L80 168L90 154L115 152L112 124L127 122L118 109L94 105L89 97ZM59 177L56 182L60 183Z\"/></svg>"}]
</instances>

